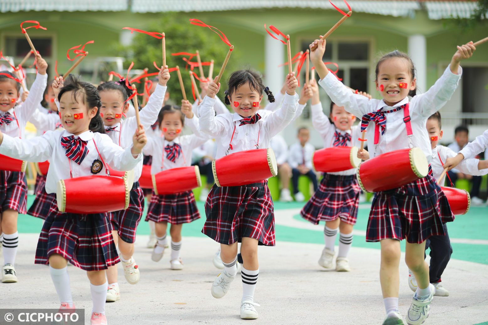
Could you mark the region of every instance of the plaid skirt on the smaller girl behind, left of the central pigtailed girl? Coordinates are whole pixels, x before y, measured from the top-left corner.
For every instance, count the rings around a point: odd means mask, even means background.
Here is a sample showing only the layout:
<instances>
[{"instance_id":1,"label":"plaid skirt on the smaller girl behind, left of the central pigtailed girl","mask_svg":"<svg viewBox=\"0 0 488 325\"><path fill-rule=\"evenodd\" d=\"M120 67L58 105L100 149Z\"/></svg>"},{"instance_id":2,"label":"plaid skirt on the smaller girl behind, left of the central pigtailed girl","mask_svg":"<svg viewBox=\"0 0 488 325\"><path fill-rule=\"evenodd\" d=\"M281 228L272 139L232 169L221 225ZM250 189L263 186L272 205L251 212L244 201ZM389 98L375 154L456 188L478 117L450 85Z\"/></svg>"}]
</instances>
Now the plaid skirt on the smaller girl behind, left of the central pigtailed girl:
<instances>
[{"instance_id":1,"label":"plaid skirt on the smaller girl behind, left of the central pigtailed girl","mask_svg":"<svg viewBox=\"0 0 488 325\"><path fill-rule=\"evenodd\" d=\"M192 191L156 195L153 191L146 221L169 222L181 225L200 218L195 195Z\"/></svg>"}]
</instances>

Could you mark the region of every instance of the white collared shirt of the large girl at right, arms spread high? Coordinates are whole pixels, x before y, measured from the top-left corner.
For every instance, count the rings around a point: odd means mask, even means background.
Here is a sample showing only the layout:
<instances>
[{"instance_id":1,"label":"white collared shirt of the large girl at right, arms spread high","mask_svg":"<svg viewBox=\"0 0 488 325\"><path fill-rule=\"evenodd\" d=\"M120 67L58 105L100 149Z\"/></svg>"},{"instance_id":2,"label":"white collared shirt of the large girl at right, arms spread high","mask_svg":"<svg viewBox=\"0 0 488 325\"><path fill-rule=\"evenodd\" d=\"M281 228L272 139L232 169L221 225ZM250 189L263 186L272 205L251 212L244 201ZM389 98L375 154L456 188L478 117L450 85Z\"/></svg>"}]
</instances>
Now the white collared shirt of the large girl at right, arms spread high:
<instances>
[{"instance_id":1,"label":"white collared shirt of the large girl at right, arms spread high","mask_svg":"<svg viewBox=\"0 0 488 325\"><path fill-rule=\"evenodd\" d=\"M427 119L430 115L439 111L451 98L458 86L461 74L461 67L458 69L458 75L451 73L449 67L447 67L444 74L426 93L413 96L410 101L408 109L410 112L410 123L413 132L411 145L422 149L429 162L432 158L432 150L426 129ZM333 74L327 74L324 79L319 81L319 84L325 89L325 92L334 103L339 106L345 106L347 112L356 115L358 118L361 118L365 114L376 112L382 108L391 110L408 103L408 97L405 97L402 101L392 107L387 106L383 99L368 100L365 96L353 94L351 90L346 88L346 86L337 80ZM374 145L375 123L371 121L366 129L368 148L374 155L409 148L409 138L407 137L405 122L403 121L404 111L400 110L388 113L385 114L385 117L386 131L385 134L381 134L380 131L377 146Z\"/></svg>"}]
</instances>

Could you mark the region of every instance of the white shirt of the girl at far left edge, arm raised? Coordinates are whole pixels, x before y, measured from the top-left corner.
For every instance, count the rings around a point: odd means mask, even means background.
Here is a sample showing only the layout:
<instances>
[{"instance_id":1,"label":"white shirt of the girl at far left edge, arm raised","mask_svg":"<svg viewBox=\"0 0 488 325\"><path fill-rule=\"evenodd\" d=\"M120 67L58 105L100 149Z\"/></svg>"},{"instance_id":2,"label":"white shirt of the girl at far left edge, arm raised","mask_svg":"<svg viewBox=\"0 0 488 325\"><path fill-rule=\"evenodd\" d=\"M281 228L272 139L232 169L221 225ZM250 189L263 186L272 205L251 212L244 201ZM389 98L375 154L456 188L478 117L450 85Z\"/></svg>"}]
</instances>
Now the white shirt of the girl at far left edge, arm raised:
<instances>
[{"instance_id":1,"label":"white shirt of the girl at far left edge, arm raised","mask_svg":"<svg viewBox=\"0 0 488 325\"><path fill-rule=\"evenodd\" d=\"M27 96L27 99L25 99L21 105L16 105L7 111L10 115L12 115L12 117L16 117L17 121L14 120L10 122L10 124L3 123L0 126L0 131L3 134L16 137L20 136L21 138L25 137L25 125L41 102L42 95L46 89L46 84L47 74L41 75L38 73L36 75L36 80L34 80L34 83L29 90L29 96ZM0 116L5 115L7 112L0 111Z\"/></svg>"}]
</instances>

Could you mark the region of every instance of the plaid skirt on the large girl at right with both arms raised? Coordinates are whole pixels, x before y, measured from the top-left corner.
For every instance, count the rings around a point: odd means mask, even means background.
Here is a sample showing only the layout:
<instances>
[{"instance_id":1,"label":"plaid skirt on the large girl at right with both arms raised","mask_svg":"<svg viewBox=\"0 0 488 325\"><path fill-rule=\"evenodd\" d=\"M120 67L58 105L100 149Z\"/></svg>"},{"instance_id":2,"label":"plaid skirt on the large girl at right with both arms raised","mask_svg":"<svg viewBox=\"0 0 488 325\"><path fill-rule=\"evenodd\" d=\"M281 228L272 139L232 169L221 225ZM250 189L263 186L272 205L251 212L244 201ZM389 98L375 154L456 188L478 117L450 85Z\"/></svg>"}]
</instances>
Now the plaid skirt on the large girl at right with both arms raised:
<instances>
[{"instance_id":1,"label":"plaid skirt on the large girl at right with both arms raised","mask_svg":"<svg viewBox=\"0 0 488 325\"><path fill-rule=\"evenodd\" d=\"M443 224L454 220L446 195L431 175L397 189L376 192L366 229L366 241L391 238L420 244L444 236Z\"/></svg>"}]
</instances>

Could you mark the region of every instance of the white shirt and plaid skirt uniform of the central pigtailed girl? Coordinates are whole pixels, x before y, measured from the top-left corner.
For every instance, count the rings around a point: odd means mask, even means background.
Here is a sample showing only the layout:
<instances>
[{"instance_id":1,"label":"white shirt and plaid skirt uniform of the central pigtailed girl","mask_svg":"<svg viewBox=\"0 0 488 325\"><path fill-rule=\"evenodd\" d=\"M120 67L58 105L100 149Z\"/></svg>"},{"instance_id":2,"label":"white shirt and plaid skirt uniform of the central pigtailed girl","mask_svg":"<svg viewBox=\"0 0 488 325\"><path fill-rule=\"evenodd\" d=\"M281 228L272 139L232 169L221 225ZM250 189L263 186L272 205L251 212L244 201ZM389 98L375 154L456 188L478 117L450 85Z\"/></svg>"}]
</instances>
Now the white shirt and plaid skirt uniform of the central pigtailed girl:
<instances>
[{"instance_id":1,"label":"white shirt and plaid skirt uniform of the central pigtailed girl","mask_svg":"<svg viewBox=\"0 0 488 325\"><path fill-rule=\"evenodd\" d=\"M215 138L218 159L228 153L269 148L270 139L295 117L298 95L285 95L281 109L263 118L258 112L246 120L236 113L215 116L214 103L213 98L203 98L200 130ZM214 185L205 202L205 214L202 232L221 244L250 237L257 239L259 245L275 245L273 201L267 180L243 186Z\"/></svg>"}]
</instances>

